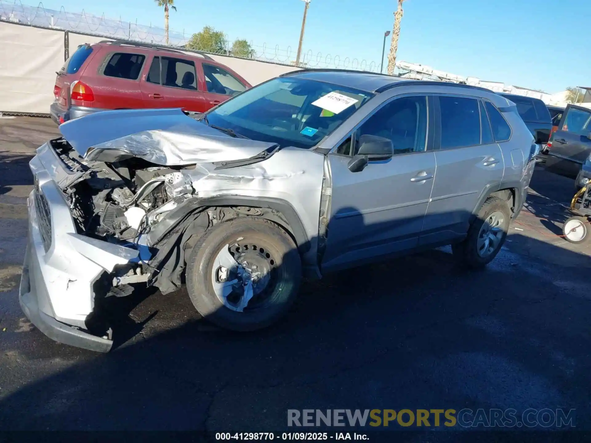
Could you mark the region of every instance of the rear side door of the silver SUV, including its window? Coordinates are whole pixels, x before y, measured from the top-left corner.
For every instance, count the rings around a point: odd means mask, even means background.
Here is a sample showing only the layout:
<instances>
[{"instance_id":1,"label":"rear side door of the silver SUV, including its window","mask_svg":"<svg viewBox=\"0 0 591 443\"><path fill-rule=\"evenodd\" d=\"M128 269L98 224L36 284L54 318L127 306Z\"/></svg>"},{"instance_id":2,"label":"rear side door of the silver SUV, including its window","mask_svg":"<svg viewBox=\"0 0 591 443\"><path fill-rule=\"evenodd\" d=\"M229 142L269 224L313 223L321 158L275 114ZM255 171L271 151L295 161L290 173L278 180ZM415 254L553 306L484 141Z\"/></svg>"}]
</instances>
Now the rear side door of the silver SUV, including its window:
<instances>
[{"instance_id":1,"label":"rear side door of the silver SUV, including its window","mask_svg":"<svg viewBox=\"0 0 591 443\"><path fill-rule=\"evenodd\" d=\"M420 245L466 234L483 193L499 189L504 161L477 97L437 95L433 193Z\"/></svg>"}]
</instances>

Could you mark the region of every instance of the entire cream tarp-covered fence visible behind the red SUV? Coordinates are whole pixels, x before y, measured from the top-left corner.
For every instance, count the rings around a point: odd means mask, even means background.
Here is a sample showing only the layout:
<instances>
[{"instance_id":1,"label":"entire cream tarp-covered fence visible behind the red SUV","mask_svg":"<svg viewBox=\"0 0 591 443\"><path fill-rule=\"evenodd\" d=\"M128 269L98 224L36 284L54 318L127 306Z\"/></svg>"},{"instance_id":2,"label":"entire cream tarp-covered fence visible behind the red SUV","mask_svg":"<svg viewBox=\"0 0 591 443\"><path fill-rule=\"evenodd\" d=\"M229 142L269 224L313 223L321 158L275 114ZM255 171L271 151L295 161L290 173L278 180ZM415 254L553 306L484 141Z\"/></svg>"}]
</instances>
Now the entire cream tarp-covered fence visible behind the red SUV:
<instances>
[{"instance_id":1,"label":"entire cream tarp-covered fence visible behind the red SUV","mask_svg":"<svg viewBox=\"0 0 591 443\"><path fill-rule=\"evenodd\" d=\"M101 40L112 39L68 32L70 54L81 44ZM64 64L64 42L63 30L0 21L0 112L49 113L56 71ZM235 70L253 86L298 69L258 60L211 57Z\"/></svg>"}]
</instances>

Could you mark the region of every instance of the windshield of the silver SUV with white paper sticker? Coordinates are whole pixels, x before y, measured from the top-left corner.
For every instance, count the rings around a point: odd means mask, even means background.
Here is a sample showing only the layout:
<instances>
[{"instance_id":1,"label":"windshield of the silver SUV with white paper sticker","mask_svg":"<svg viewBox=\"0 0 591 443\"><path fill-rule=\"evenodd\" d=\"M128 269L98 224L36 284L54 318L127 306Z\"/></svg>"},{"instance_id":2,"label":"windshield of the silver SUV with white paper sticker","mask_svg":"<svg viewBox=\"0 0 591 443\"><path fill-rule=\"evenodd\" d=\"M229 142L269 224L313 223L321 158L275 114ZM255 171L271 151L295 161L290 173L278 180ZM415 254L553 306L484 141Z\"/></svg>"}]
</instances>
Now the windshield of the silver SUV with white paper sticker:
<instances>
[{"instance_id":1,"label":"windshield of the silver SUV with white paper sticker","mask_svg":"<svg viewBox=\"0 0 591 443\"><path fill-rule=\"evenodd\" d=\"M311 148L373 95L336 84L284 77L207 113L210 126L281 147Z\"/></svg>"}]
</instances>

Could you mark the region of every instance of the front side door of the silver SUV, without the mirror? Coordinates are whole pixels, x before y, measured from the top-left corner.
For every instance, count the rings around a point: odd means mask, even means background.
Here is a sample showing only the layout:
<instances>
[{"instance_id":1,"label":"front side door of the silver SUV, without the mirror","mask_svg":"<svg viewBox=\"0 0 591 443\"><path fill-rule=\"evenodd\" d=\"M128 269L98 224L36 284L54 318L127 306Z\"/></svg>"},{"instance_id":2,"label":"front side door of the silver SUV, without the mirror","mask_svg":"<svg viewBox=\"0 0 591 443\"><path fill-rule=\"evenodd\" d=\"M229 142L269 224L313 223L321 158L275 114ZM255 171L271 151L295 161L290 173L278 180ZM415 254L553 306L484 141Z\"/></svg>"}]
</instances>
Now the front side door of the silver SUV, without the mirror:
<instances>
[{"instance_id":1,"label":"front side door of the silver SUV, without the mirror","mask_svg":"<svg viewBox=\"0 0 591 443\"><path fill-rule=\"evenodd\" d=\"M332 200L323 271L418 246L436 166L434 152L426 151L430 99L417 95L386 102L329 154ZM365 134L391 139L394 155L352 172L349 162Z\"/></svg>"}]
</instances>

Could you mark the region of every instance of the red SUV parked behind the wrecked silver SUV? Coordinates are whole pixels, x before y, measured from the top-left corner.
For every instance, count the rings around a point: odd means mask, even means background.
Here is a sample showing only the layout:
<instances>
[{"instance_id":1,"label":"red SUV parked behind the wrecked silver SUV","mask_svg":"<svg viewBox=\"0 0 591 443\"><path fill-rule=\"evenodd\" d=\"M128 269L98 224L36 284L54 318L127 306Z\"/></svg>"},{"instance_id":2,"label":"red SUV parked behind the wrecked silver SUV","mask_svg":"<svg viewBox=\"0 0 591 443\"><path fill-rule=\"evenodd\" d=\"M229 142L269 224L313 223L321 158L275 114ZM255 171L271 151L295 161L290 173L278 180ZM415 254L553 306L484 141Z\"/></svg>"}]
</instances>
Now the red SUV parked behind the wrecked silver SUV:
<instances>
[{"instance_id":1,"label":"red SUV parked behind the wrecked silver SUV","mask_svg":"<svg viewBox=\"0 0 591 443\"><path fill-rule=\"evenodd\" d=\"M251 87L202 53L129 41L80 45L57 73L50 108L59 125L106 109L205 112Z\"/></svg>"}]
</instances>

